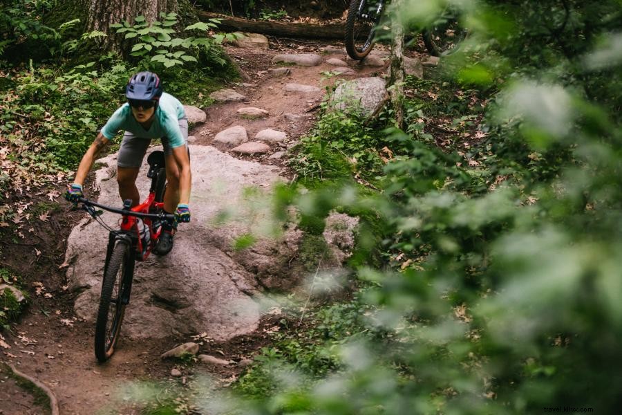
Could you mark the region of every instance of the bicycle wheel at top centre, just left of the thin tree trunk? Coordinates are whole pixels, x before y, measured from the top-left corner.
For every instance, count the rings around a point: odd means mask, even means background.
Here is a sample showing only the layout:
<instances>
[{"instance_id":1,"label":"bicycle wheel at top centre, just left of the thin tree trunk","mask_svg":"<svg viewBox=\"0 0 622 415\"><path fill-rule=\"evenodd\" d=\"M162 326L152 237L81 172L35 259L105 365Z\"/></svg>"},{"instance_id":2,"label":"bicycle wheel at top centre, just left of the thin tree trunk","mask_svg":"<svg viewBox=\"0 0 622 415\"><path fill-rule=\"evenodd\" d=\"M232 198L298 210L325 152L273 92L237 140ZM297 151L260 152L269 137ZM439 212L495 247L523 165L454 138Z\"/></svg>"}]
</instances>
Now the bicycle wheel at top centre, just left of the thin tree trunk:
<instances>
[{"instance_id":1,"label":"bicycle wheel at top centre, just left of the thin tree trunk","mask_svg":"<svg viewBox=\"0 0 622 415\"><path fill-rule=\"evenodd\" d=\"M352 0L346 19L346 51L352 59L366 57L374 47L376 25L382 14L381 1Z\"/></svg>"}]
</instances>

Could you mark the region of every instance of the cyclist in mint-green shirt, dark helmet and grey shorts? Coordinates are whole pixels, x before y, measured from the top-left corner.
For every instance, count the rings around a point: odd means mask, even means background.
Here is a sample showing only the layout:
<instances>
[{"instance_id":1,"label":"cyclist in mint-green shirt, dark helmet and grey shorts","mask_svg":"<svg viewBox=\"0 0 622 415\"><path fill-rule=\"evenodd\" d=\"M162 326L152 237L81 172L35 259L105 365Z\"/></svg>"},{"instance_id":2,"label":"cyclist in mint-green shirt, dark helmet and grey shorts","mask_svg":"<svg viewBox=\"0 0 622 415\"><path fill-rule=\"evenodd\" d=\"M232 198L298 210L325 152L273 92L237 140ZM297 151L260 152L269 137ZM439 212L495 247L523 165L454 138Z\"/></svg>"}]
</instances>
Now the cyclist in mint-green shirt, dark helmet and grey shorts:
<instances>
[{"instance_id":1,"label":"cyclist in mint-green shirt, dark helmet and grey shorts","mask_svg":"<svg viewBox=\"0 0 622 415\"><path fill-rule=\"evenodd\" d=\"M139 72L133 75L127 83L125 95L128 102L113 113L82 156L74 183L68 185L65 199L76 202L82 197L82 185L93 162L117 132L124 130L117 159L119 194L122 200L131 199L132 207L138 205L140 196L135 185L138 170L151 139L160 138L168 182L164 193L164 211L176 215L175 223L162 225L162 235L153 251L165 255L173 248L177 223L190 221L188 120L181 102L164 93L160 78L155 73Z\"/></svg>"}]
</instances>

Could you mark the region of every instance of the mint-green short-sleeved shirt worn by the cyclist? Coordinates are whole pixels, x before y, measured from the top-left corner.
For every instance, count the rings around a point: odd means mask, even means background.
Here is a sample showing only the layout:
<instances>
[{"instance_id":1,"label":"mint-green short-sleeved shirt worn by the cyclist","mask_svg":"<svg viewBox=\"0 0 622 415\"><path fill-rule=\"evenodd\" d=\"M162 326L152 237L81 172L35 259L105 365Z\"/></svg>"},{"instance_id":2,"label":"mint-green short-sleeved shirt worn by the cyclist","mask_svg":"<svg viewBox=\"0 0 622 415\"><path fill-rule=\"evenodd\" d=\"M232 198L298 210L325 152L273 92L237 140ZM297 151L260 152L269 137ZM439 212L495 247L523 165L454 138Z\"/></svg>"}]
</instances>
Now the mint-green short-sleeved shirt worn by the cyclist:
<instances>
[{"instance_id":1,"label":"mint-green short-sleeved shirt worn by the cyclist","mask_svg":"<svg viewBox=\"0 0 622 415\"><path fill-rule=\"evenodd\" d=\"M109 118L102 134L104 137L112 140L119 131L129 131L136 137L140 138L162 138L169 139L171 148L180 147L185 144L184 136L179 129L178 120L185 118L184 106L173 95L162 93L158 108L154 114L153 123L149 129L144 129L142 125L136 121L132 114L132 110L128 103L123 104Z\"/></svg>"}]
</instances>

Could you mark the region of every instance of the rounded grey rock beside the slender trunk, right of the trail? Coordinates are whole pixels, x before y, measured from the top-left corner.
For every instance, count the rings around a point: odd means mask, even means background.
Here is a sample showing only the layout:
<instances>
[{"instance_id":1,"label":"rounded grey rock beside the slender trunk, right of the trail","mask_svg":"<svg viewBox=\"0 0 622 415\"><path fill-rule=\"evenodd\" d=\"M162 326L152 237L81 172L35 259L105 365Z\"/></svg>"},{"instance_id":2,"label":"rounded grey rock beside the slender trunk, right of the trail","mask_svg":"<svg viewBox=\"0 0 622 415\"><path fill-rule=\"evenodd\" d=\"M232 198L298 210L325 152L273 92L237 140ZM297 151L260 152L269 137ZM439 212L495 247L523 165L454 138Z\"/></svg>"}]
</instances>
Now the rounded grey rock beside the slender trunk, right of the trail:
<instances>
[{"instance_id":1,"label":"rounded grey rock beside the slender trunk, right of the trail","mask_svg":"<svg viewBox=\"0 0 622 415\"><path fill-rule=\"evenodd\" d=\"M370 116L384 105L386 98L385 82L381 77L357 78L337 86L329 107L337 111L355 111Z\"/></svg>"}]
</instances>

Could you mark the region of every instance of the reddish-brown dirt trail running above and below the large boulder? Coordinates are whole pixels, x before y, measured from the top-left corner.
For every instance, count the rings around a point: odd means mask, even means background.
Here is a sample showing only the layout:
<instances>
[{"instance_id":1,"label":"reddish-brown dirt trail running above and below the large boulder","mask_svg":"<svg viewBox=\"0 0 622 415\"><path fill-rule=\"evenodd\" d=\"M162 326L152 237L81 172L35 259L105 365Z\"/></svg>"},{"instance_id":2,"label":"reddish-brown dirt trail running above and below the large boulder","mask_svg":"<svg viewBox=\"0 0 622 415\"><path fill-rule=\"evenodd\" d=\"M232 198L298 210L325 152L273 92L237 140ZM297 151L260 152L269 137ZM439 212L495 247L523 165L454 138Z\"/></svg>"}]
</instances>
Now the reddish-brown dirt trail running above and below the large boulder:
<instances>
[{"instance_id":1,"label":"reddish-brown dirt trail running above and below the large boulder","mask_svg":"<svg viewBox=\"0 0 622 415\"><path fill-rule=\"evenodd\" d=\"M288 133L288 140L284 146L273 146L270 153L259 156L238 156L246 160L256 160L259 163L284 164L283 159L270 159L275 151L290 147L314 122L314 116L304 120L291 122L284 117L285 113L314 114L308 111L321 102L323 91L319 93L298 94L285 93L283 85L286 83L299 83L319 86L323 89L326 80L323 71L334 68L326 63L330 57L338 57L346 60L345 54L323 54L323 63L319 66L288 66L290 73L283 77L272 76L269 68L278 67L272 64L272 57L277 53L319 53L324 45L319 44L280 44L270 50L249 50L241 48L229 48L228 52L240 64L250 80L245 85L232 84L236 91L246 95L243 102L229 102L215 104L207 109L207 121L191 131L196 137L194 145L211 145L214 135L227 127L243 125L249 135L249 140L254 140L255 134L265 128L277 129ZM355 69L352 75L342 75L341 78L363 77L376 75L382 68L358 66L349 61L349 66ZM239 117L236 110L241 107L258 107L265 109L270 114L268 118L261 120L247 120ZM234 154L232 154L234 155ZM235 156L235 155L234 155ZM59 190L60 191L60 190ZM57 195L59 203L61 199ZM64 225L77 223L80 213L68 214L66 211L56 212L59 220ZM60 219L62 218L62 219ZM66 232L60 232L61 234ZM65 235L66 236L66 235ZM102 237L105 234L102 231ZM23 255L28 255L28 248L23 247ZM56 249L56 250L54 250ZM27 315L17 324L14 333L6 333L6 342L10 349L0 349L3 352L1 358L12 362L21 371L36 377L52 389L59 400L62 414L87 414L106 413L113 396L123 387L124 382L131 380L156 380L169 382L171 385L179 385L179 379L170 378L173 367L178 362L160 360L160 353L171 349L181 342L191 341L188 338L169 338L165 340L132 341L122 338L118 344L115 356L104 365L98 365L93 356L93 326L77 320L73 316L74 294L64 289L64 271L59 265L62 263L63 249L50 247L52 252L37 255L35 269L43 275L40 278L30 277L29 282L41 281L46 291L41 295L32 294L32 301ZM101 252L104 255L104 252ZM8 261L8 259L6 259ZM11 265L17 264L19 258L10 260ZM30 263L32 266L32 262ZM15 268L14 268L15 269ZM27 275L33 268L23 266L23 275ZM48 296L44 294L48 293ZM95 307L96 304L93 304ZM131 305L130 305L131 306ZM266 344L265 327L270 326L270 318L264 319L260 329L253 335L245 335L230 340L225 344L206 343L201 347L201 353L214 354L229 360L241 360L251 358L254 352ZM226 380L238 374L241 367L182 367L184 376L192 376L195 370L208 370L216 376ZM183 378L185 379L185 377ZM8 387L8 381L2 380L0 389ZM19 399L19 395L15 395ZM26 402L26 401L24 401ZM119 405L119 404L115 404ZM140 405L115 406L113 413L135 414L140 412ZM3 401L0 404L0 414L22 414L23 403L10 403Z\"/></svg>"}]
</instances>

